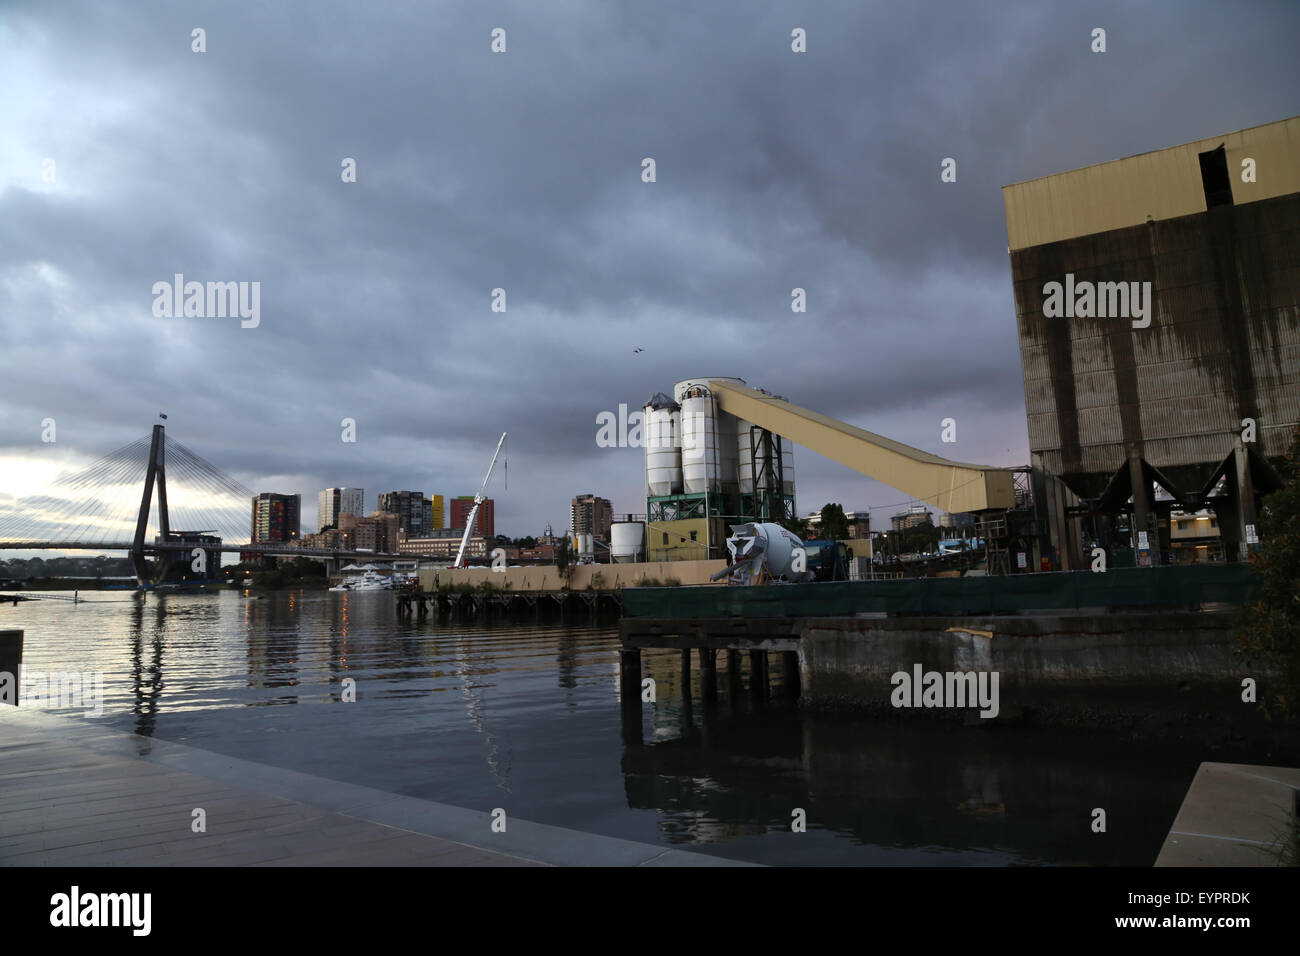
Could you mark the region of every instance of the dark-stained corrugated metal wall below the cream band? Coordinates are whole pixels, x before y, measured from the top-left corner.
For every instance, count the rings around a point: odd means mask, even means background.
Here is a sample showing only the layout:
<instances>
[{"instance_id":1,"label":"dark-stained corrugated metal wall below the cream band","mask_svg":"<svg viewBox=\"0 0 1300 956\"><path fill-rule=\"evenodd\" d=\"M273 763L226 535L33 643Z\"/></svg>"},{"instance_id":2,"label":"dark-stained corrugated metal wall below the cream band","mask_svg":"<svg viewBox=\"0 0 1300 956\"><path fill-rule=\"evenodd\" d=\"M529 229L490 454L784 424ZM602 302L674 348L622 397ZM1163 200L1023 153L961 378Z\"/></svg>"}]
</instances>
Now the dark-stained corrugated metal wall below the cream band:
<instances>
[{"instance_id":1,"label":"dark-stained corrugated metal wall below the cream band","mask_svg":"<svg viewBox=\"0 0 1300 956\"><path fill-rule=\"evenodd\" d=\"M1152 282L1150 326L1046 319L1044 285L1067 272ZM1258 421L1258 453L1288 446L1300 419L1300 193L1022 248L1011 273L1030 447L1076 494L1100 494L1128 444L1191 486L1231 451L1243 418Z\"/></svg>"}]
</instances>

